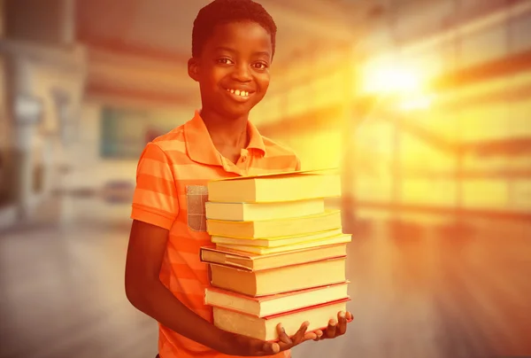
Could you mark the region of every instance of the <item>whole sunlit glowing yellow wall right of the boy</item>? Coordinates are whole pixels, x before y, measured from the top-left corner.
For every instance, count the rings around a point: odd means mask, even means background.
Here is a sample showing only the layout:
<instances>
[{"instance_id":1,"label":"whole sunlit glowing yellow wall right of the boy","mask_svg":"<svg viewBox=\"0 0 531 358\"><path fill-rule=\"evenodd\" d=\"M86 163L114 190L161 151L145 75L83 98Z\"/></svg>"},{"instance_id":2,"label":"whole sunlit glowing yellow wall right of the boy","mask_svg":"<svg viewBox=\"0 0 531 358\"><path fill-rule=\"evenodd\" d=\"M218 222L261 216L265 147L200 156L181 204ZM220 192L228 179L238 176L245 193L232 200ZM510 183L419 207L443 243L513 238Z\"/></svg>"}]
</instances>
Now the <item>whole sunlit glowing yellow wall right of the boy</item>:
<instances>
[{"instance_id":1,"label":"whole sunlit glowing yellow wall right of the boy","mask_svg":"<svg viewBox=\"0 0 531 358\"><path fill-rule=\"evenodd\" d=\"M361 216L389 218L398 207L417 210L400 216L423 222L452 220L440 213L458 207L531 213L529 150L511 149L531 138L531 3L411 2L393 13L372 21L350 56L322 51L277 74L253 115L296 149L305 168L346 154L356 176L347 195L364 202ZM406 80L409 71L418 89L412 78L395 97L367 93L401 82L381 76L389 70ZM342 105L361 117L338 121L328 109ZM500 143L497 152L458 154L489 142Z\"/></svg>"}]
</instances>

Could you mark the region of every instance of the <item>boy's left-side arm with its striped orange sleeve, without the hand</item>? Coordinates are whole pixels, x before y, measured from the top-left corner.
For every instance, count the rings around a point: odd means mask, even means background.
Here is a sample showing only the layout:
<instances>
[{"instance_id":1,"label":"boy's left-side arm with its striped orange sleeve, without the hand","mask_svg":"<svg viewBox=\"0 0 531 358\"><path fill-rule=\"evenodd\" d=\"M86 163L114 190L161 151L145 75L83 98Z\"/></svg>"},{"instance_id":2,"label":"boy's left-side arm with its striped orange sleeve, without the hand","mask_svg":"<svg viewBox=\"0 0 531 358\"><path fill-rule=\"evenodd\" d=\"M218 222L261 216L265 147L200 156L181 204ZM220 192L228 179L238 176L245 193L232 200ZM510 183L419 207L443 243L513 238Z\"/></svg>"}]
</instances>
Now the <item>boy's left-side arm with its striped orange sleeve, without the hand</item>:
<instances>
[{"instance_id":1,"label":"boy's left-side arm with its striped orange sleeve, without the hand","mask_svg":"<svg viewBox=\"0 0 531 358\"><path fill-rule=\"evenodd\" d=\"M146 145L138 162L126 261L127 299L171 330L224 352L229 340L227 333L182 304L159 279L169 229L179 214L172 165L154 143Z\"/></svg>"}]
</instances>

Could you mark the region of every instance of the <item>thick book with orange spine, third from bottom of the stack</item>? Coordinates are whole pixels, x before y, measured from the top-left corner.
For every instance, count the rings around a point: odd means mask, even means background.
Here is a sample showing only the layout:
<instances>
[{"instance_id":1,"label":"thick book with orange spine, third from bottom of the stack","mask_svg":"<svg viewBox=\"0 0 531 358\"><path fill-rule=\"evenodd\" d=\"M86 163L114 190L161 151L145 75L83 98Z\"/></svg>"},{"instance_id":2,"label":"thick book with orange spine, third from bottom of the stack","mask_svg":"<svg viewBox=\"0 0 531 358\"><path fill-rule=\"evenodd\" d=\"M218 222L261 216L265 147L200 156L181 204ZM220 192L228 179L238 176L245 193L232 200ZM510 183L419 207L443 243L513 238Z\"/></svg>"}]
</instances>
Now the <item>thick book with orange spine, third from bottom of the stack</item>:
<instances>
[{"instance_id":1,"label":"thick book with orange spine, third from bottom of the stack","mask_svg":"<svg viewBox=\"0 0 531 358\"><path fill-rule=\"evenodd\" d=\"M210 263L211 284L220 289L252 297L337 284L346 281L345 259L346 256L341 256L253 271Z\"/></svg>"}]
</instances>

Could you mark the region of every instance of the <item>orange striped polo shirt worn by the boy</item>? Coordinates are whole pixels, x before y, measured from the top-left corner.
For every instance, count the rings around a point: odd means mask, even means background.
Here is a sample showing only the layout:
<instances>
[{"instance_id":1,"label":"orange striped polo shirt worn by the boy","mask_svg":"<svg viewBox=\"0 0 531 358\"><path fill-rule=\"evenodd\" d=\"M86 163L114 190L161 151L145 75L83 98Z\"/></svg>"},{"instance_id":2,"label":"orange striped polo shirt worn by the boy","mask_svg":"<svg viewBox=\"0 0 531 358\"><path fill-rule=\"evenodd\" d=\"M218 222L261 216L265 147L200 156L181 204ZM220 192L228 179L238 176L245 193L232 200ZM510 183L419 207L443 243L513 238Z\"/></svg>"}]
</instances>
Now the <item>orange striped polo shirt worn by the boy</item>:
<instances>
[{"instance_id":1,"label":"orange striped polo shirt worn by the boy","mask_svg":"<svg viewBox=\"0 0 531 358\"><path fill-rule=\"evenodd\" d=\"M219 178L299 170L288 148L261 136L248 122L250 144L236 164L219 154L196 112L194 118L146 145L138 163L131 218L169 230L160 280L183 304L212 323L212 307L204 305L209 286L207 265L199 249L211 242L206 232L206 184ZM161 358L222 358L212 349L159 324ZM289 357L289 352L275 357Z\"/></svg>"}]
</instances>

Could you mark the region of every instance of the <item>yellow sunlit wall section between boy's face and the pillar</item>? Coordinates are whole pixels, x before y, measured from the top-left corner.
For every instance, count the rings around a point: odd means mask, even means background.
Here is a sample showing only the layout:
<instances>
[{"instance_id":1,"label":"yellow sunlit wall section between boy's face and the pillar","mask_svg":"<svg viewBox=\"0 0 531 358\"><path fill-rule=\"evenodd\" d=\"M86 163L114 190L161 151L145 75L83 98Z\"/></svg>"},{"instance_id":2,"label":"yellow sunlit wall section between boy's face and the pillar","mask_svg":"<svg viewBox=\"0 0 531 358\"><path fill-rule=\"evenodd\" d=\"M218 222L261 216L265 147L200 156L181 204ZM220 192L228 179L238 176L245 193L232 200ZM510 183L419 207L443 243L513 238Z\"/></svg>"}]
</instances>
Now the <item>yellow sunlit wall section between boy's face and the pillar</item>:
<instances>
[{"instance_id":1,"label":"yellow sunlit wall section between boy's face and the pillar","mask_svg":"<svg viewBox=\"0 0 531 358\"><path fill-rule=\"evenodd\" d=\"M282 74L250 115L266 136L288 145L304 170L341 167L344 104L351 96L350 52L319 51ZM274 65L273 65L274 66Z\"/></svg>"}]
</instances>

